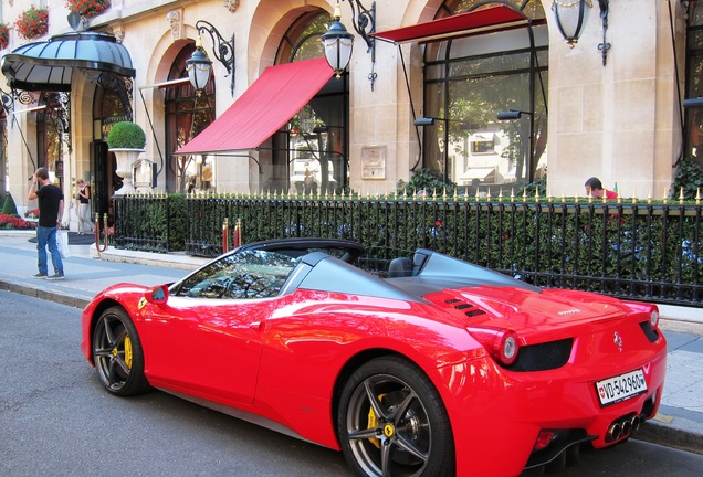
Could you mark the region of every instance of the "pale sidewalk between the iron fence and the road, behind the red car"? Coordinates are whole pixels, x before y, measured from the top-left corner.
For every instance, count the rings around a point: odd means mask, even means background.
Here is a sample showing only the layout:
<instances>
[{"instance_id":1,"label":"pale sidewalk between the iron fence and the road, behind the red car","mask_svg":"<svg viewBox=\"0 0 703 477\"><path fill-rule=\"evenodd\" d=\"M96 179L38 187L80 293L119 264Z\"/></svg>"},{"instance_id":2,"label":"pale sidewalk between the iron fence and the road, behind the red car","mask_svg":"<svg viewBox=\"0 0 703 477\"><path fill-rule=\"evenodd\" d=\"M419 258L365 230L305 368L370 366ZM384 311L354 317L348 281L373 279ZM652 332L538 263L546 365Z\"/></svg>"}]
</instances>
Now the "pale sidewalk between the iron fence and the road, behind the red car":
<instances>
[{"instance_id":1,"label":"pale sidewalk between the iron fence and the road, behind the red car","mask_svg":"<svg viewBox=\"0 0 703 477\"><path fill-rule=\"evenodd\" d=\"M66 279L33 279L34 232L0 231L0 289L83 308L99 290L119 282L159 285L175 282L208 262L185 254L153 254L94 245L69 245ZM51 268L51 258L50 258ZM660 306L669 342L668 371L659 414L637 438L703 454L703 309Z\"/></svg>"}]
</instances>

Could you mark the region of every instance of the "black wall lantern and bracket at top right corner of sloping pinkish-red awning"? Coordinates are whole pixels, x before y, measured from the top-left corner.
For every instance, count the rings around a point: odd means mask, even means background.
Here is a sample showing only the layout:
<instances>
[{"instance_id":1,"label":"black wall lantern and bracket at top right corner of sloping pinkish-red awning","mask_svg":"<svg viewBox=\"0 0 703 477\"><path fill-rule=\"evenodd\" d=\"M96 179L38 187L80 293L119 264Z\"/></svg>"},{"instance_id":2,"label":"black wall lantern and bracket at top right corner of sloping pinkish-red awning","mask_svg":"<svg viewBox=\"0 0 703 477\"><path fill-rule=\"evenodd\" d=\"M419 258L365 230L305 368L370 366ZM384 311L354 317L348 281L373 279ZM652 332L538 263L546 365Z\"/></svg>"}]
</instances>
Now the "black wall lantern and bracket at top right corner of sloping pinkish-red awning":
<instances>
[{"instance_id":1,"label":"black wall lantern and bracket at top right corner of sloping pinkish-red awning","mask_svg":"<svg viewBox=\"0 0 703 477\"><path fill-rule=\"evenodd\" d=\"M371 36L376 32L376 2L371 2L371 8L367 9L359 0L347 0L352 7L352 20L354 30L364 39L371 54L371 72L368 75L371 82L371 91L374 91L374 82L376 81L376 39ZM354 47L354 35L350 34L346 26L342 23L342 9L339 0L335 6L334 23L327 32L322 35L322 42L325 47L325 57L327 63L335 71L337 77L346 70L352 59L352 50Z\"/></svg>"}]
</instances>

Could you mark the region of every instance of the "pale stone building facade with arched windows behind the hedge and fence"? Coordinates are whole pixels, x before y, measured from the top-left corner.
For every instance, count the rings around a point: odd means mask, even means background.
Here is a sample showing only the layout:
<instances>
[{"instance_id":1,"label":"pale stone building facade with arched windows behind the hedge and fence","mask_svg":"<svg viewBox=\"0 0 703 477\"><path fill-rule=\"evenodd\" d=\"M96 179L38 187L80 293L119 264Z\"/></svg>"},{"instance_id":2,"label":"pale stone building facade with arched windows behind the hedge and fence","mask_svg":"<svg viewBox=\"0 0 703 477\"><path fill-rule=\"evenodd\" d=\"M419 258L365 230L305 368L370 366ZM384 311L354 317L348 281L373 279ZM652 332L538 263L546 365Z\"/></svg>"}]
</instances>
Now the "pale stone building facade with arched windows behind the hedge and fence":
<instances>
[{"instance_id":1,"label":"pale stone building facade with arched windows behind the hedge and fence","mask_svg":"<svg viewBox=\"0 0 703 477\"><path fill-rule=\"evenodd\" d=\"M684 134L692 113L683 99L694 91L685 74L686 28L697 2L610 0L604 29L594 0L583 35L569 47L553 0L344 0L340 21L355 34L352 61L347 73L329 72L322 85L307 84L305 74L324 56L319 36L336 0L104 0L104 11L92 17L70 17L67 3L81 2L38 0L48 11L46 33L24 39L15 20L28 2L2 1L8 84L0 166L2 187L21 208L32 206L27 178L46 166L66 195L84 179L93 186L94 212L109 212L122 180L105 139L119 120L146 132L132 170L145 192L382 194L429 168L466 193L500 188L508 195L546 174L552 195L583 197L584 181L597 176L623 197L661 199L675 163L692 149ZM353 25L359 7L373 6L378 36L371 54ZM502 7L522 12L520 21L503 24L492 13L479 22L483 28L471 26L476 8ZM441 40L411 38L408 30L420 24L427 33L439 19L461 14L461 28L439 26ZM113 35L128 52L134 76L75 66L69 57L64 91L13 84L20 73L6 67L8 59L17 70L36 64L11 56L18 49L76 30ZM199 33L213 71L203 92L185 80ZM221 42L233 46L231 64L217 57ZM285 83L283 70L266 75L277 72L277 80L263 80L267 68L296 62L311 64L295 70L298 81ZM271 93L271 105L228 130L228 113L256 110L242 106L255 103L246 99L254 87ZM292 97L304 105L293 114L282 106ZM522 114L499 119L510 110ZM220 136L266 136L246 149L178 153L211 124Z\"/></svg>"}]
</instances>

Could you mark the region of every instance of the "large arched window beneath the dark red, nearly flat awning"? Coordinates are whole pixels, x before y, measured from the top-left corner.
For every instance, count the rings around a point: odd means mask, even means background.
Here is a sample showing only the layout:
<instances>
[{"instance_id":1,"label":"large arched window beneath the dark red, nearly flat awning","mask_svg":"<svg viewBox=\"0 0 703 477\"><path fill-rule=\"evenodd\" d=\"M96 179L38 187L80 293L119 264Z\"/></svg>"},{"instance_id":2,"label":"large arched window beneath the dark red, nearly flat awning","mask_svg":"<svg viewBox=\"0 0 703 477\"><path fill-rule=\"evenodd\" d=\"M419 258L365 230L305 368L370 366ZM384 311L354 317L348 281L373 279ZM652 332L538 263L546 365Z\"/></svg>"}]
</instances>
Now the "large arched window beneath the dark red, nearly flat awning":
<instances>
[{"instance_id":1,"label":"large arched window beneath the dark red, nearly flat awning","mask_svg":"<svg viewBox=\"0 0 703 477\"><path fill-rule=\"evenodd\" d=\"M459 186L525 183L546 172L548 32L539 0L447 0L437 18L486 6L522 10L529 28L429 43L423 167ZM497 119L500 112L523 112Z\"/></svg>"}]
</instances>

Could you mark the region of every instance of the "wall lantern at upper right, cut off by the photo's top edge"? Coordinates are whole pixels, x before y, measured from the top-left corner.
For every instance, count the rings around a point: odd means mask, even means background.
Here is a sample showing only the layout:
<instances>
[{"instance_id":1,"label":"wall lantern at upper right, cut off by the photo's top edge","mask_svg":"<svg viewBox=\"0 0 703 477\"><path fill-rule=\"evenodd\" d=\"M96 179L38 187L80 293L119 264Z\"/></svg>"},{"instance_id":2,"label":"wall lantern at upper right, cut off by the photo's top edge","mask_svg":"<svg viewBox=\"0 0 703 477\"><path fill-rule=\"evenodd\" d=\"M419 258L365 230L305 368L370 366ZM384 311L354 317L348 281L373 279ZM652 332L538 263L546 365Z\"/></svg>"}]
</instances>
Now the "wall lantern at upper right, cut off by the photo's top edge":
<instances>
[{"instance_id":1,"label":"wall lantern at upper right, cut off by the photo's top edge","mask_svg":"<svg viewBox=\"0 0 703 477\"><path fill-rule=\"evenodd\" d=\"M569 47L574 47L578 42L586 23L590 9L594 8L595 0L553 0L552 11L556 25L564 40ZM602 43L598 44L598 50L602 52L602 65L606 65L608 50L610 43L606 42L606 31L608 30L608 12L610 10L610 0L597 0L600 9L600 19L602 21Z\"/></svg>"}]
</instances>

